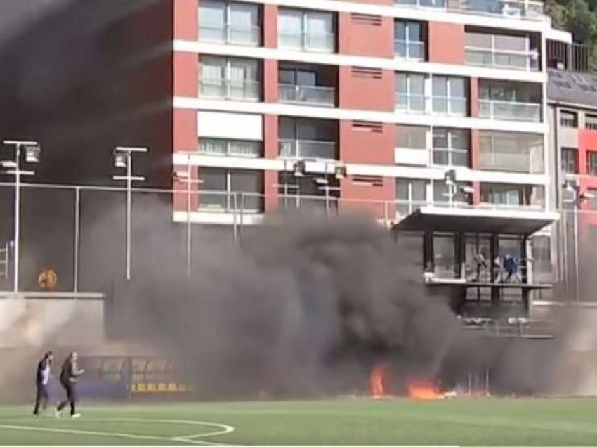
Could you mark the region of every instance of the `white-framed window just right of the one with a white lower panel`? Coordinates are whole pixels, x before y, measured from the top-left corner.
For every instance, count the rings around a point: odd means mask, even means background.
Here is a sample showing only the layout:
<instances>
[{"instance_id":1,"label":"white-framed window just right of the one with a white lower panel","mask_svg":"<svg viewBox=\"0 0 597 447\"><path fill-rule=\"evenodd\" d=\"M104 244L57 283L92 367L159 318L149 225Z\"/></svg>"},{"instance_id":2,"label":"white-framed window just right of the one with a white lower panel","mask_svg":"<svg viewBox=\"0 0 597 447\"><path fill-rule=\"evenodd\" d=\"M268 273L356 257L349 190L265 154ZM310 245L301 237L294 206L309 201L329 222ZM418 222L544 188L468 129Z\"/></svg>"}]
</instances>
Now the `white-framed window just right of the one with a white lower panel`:
<instances>
[{"instance_id":1,"label":"white-framed window just right of the one with a white lower panel","mask_svg":"<svg viewBox=\"0 0 597 447\"><path fill-rule=\"evenodd\" d=\"M433 164L468 166L471 134L464 129L433 129Z\"/></svg>"}]
</instances>

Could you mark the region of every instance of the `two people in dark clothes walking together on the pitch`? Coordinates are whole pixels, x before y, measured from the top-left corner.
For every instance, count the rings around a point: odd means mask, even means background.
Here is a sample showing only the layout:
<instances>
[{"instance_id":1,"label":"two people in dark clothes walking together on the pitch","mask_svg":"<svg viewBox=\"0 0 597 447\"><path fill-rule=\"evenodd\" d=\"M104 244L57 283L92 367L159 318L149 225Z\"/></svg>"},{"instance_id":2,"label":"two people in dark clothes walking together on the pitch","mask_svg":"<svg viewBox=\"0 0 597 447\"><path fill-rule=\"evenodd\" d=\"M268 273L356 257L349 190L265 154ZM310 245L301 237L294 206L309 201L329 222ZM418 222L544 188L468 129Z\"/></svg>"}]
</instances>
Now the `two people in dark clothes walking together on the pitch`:
<instances>
[{"instance_id":1,"label":"two people in dark clothes walking together on the pitch","mask_svg":"<svg viewBox=\"0 0 597 447\"><path fill-rule=\"evenodd\" d=\"M60 417L65 406L70 405L70 417L76 419L81 417L77 413L77 378L83 374L84 370L79 370L77 360L79 356L76 351L73 351L67 356L62 368L60 368L60 385L65 389L66 399L60 401L55 410L55 416ZM48 407L48 384L50 382L51 368L54 361L54 354L52 351L46 352L37 364L37 373L35 378L35 386L37 389L35 396L35 406L33 414L38 416L40 409L45 412Z\"/></svg>"}]
</instances>

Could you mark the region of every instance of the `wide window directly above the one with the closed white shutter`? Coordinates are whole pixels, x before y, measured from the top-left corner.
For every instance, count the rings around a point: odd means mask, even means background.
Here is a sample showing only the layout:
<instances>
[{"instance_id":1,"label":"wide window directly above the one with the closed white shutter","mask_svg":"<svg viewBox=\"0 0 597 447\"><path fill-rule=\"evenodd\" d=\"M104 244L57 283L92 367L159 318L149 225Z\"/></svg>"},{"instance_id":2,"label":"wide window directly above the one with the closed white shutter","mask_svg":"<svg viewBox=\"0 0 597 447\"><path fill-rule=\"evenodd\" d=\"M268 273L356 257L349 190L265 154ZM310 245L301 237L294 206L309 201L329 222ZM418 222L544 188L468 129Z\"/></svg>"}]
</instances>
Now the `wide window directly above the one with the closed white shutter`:
<instances>
[{"instance_id":1,"label":"wide window directly above the one with the closed white shutter","mask_svg":"<svg viewBox=\"0 0 597 447\"><path fill-rule=\"evenodd\" d=\"M261 65L257 60L202 56L199 91L211 98L259 101Z\"/></svg>"}]
</instances>

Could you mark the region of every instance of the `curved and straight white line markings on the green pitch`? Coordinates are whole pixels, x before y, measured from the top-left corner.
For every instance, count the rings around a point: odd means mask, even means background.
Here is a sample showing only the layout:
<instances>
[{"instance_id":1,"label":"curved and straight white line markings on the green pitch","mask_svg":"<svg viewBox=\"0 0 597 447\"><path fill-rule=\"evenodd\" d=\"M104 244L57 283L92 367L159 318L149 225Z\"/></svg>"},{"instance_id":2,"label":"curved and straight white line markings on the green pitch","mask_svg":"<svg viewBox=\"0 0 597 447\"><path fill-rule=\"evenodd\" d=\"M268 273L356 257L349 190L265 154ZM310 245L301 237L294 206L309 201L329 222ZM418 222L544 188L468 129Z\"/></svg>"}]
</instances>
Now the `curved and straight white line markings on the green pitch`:
<instances>
[{"instance_id":1,"label":"curved and straight white line markings on the green pitch","mask_svg":"<svg viewBox=\"0 0 597 447\"><path fill-rule=\"evenodd\" d=\"M235 431L231 425L220 424L218 422L204 422L197 420L176 420L176 419L141 419L141 418L124 418L124 419L85 419L87 422L143 422L155 424L177 424L177 425L201 425L207 427L214 427L218 430L216 432L206 432L199 434L190 434L183 436L152 436L145 434L129 434L119 432L96 432L93 430L79 430L79 429L60 429L52 427L34 427L30 425L0 425L0 429L7 430L21 430L24 432L48 432L48 433L63 433L63 434L83 434L87 436L105 436L123 439L145 439L151 441L170 441L178 443L190 443L202 446L223 445L211 441L201 441L198 438L211 438L213 436L221 436L223 434L230 434Z\"/></svg>"}]
</instances>

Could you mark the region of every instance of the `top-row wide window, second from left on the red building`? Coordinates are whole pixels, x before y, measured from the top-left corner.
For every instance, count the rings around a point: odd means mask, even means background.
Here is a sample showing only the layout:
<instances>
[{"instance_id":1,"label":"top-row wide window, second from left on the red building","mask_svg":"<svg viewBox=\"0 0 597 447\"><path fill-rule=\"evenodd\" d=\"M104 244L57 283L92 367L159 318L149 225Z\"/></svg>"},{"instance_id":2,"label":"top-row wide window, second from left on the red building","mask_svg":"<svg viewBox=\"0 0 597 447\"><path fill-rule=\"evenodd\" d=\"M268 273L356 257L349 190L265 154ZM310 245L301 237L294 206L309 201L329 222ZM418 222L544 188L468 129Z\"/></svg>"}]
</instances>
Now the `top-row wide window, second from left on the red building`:
<instances>
[{"instance_id":1,"label":"top-row wide window, second from left on the red building","mask_svg":"<svg viewBox=\"0 0 597 447\"><path fill-rule=\"evenodd\" d=\"M280 8L278 45L308 51L333 53L336 48L334 14Z\"/></svg>"}]
</instances>

